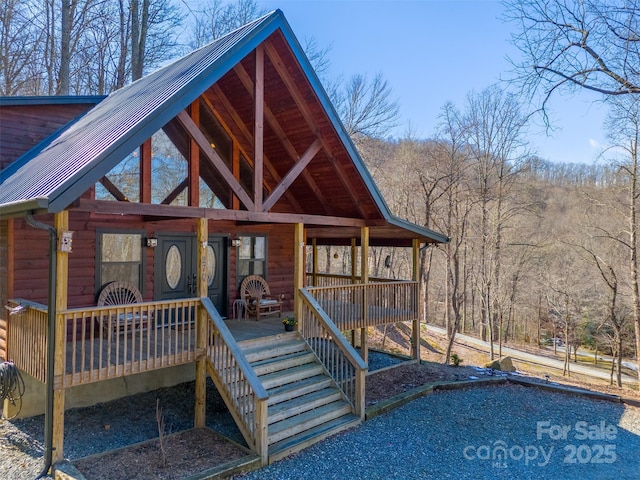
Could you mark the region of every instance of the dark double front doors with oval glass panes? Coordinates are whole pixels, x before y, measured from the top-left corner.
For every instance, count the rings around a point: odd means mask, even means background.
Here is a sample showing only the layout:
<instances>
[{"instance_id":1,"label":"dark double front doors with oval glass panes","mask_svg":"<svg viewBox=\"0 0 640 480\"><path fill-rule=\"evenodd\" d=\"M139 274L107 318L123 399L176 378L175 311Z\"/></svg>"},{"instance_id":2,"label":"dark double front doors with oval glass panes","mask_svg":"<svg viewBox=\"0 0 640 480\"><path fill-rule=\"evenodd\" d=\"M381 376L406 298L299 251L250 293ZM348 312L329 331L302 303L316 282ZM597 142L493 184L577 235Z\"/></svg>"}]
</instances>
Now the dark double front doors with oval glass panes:
<instances>
[{"instance_id":1,"label":"dark double front doors with oval glass panes","mask_svg":"<svg viewBox=\"0 0 640 480\"><path fill-rule=\"evenodd\" d=\"M222 316L227 302L227 238L209 237L207 242L207 295ZM156 300L193 298L197 295L197 239L190 234L158 234L155 254Z\"/></svg>"}]
</instances>

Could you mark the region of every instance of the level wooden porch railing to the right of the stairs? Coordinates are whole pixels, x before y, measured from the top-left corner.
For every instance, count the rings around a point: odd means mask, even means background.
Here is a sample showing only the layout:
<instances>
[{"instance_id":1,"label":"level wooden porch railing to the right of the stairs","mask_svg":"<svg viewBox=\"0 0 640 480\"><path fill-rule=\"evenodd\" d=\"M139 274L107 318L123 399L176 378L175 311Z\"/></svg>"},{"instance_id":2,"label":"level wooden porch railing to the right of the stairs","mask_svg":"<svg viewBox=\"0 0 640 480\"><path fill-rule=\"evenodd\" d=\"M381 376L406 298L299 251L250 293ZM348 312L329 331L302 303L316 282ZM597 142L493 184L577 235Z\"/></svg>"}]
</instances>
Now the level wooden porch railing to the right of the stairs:
<instances>
[{"instance_id":1,"label":"level wooden porch railing to the right of the stairs","mask_svg":"<svg viewBox=\"0 0 640 480\"><path fill-rule=\"evenodd\" d=\"M307 290L343 331L407 322L418 316L417 282L309 287Z\"/></svg>"}]
</instances>

